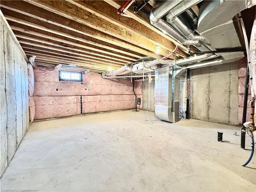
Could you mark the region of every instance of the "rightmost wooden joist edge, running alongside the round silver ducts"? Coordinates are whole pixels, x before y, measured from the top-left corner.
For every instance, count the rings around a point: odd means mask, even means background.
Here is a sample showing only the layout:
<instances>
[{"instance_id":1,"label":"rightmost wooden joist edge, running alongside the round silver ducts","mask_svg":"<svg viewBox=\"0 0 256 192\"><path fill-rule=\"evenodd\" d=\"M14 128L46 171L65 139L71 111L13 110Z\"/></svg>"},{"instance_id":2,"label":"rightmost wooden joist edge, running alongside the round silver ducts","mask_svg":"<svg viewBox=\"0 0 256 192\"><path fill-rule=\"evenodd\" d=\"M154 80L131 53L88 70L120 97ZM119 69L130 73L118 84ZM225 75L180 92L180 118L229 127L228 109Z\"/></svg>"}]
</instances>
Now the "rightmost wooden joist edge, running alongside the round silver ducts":
<instances>
[{"instance_id":1,"label":"rightmost wooden joist edge, running alongside the round silver ducts","mask_svg":"<svg viewBox=\"0 0 256 192\"><path fill-rule=\"evenodd\" d=\"M115 0L103 0L104 2L112 5L113 7L115 7L116 9L119 9L123 3L123 1L115 1ZM150 28L151 30L155 31L156 33L160 34L161 36L165 37L166 39L174 42L175 45L178 45L181 49L183 49L185 52L187 51L187 48L183 45L181 45L178 41L176 41L175 39L173 39L172 37L166 35L165 33L163 33L162 31L160 31L159 29L155 28L153 25L151 25L150 23L150 19L147 17L142 17L142 15L140 14L136 14L133 12L132 9L128 9L125 12L127 15L129 15L131 18L137 20L139 23L141 23L142 25L146 26L147 28Z\"/></svg>"}]
</instances>

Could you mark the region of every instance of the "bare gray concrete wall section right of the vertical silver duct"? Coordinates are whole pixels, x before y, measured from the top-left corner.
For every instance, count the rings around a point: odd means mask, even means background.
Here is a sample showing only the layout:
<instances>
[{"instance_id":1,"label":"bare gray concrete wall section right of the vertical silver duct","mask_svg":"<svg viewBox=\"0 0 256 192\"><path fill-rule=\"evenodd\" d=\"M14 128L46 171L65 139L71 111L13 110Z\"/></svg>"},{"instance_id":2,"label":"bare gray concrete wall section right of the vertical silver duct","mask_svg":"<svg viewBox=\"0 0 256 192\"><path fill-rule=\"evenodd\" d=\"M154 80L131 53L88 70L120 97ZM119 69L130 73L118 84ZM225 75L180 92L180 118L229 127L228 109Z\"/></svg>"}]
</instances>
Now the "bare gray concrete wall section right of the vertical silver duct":
<instances>
[{"instance_id":1,"label":"bare gray concrete wall section right of the vertical silver duct","mask_svg":"<svg viewBox=\"0 0 256 192\"><path fill-rule=\"evenodd\" d=\"M238 63L190 72L191 118L238 124Z\"/></svg>"}]
</instances>

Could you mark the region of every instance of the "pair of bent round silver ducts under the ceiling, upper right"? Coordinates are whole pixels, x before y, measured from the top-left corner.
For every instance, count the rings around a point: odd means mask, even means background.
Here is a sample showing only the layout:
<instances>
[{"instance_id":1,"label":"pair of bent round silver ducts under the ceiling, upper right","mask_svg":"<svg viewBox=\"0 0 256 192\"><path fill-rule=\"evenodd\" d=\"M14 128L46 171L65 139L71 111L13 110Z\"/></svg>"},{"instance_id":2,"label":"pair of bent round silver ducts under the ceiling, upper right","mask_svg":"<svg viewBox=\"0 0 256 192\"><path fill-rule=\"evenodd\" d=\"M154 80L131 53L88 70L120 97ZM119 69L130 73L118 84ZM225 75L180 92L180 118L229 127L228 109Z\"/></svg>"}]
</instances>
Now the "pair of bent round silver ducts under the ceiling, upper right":
<instances>
[{"instance_id":1,"label":"pair of bent round silver ducts under the ceiling, upper right","mask_svg":"<svg viewBox=\"0 0 256 192\"><path fill-rule=\"evenodd\" d=\"M151 24L173 37L183 45L194 45L200 51L214 50L205 45L204 38L189 27L186 21L179 16L181 13L196 5L197 1L165 1L160 6L154 8L150 14ZM167 15L166 15L167 14ZM163 16L166 15L166 21ZM196 21L194 15L194 22Z\"/></svg>"}]
</instances>

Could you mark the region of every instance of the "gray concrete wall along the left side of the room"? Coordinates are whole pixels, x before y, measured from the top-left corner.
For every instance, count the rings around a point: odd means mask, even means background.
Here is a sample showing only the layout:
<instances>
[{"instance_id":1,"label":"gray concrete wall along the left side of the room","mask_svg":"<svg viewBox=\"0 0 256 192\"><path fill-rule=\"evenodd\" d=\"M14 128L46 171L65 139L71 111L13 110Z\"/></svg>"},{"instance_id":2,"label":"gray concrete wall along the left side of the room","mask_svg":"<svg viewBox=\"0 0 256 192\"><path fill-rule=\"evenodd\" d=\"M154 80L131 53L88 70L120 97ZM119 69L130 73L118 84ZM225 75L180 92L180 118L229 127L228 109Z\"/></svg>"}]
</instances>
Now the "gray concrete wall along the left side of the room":
<instances>
[{"instance_id":1,"label":"gray concrete wall along the left side of the room","mask_svg":"<svg viewBox=\"0 0 256 192\"><path fill-rule=\"evenodd\" d=\"M0 174L29 126L28 72L24 52L0 11Z\"/></svg>"}]
</instances>

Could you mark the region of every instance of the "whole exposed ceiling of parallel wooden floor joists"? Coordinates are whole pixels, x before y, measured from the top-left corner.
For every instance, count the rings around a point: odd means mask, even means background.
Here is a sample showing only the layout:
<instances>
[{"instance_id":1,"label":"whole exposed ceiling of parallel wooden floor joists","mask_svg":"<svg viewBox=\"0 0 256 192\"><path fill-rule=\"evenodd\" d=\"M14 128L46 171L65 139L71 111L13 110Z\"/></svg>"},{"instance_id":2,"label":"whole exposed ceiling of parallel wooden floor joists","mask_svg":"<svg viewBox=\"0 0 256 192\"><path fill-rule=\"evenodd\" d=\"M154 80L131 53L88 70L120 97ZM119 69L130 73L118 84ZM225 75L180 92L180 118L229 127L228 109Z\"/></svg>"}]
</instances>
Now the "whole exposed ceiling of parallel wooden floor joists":
<instances>
[{"instance_id":1,"label":"whole exposed ceiling of parallel wooden floor joists","mask_svg":"<svg viewBox=\"0 0 256 192\"><path fill-rule=\"evenodd\" d=\"M144 57L163 58L179 45L150 24L148 14L117 14L123 1L1 1L0 7L27 55L41 65L61 63L97 72ZM147 12L151 5L145 7ZM157 47L160 53L157 54ZM171 59L186 57L186 48Z\"/></svg>"}]
</instances>

